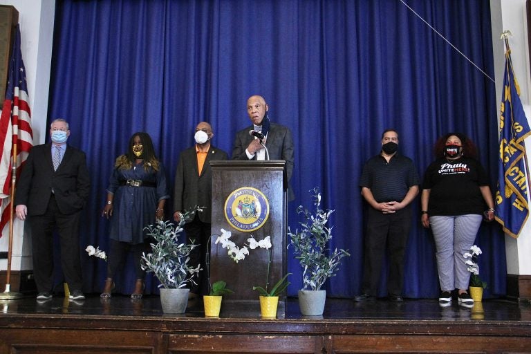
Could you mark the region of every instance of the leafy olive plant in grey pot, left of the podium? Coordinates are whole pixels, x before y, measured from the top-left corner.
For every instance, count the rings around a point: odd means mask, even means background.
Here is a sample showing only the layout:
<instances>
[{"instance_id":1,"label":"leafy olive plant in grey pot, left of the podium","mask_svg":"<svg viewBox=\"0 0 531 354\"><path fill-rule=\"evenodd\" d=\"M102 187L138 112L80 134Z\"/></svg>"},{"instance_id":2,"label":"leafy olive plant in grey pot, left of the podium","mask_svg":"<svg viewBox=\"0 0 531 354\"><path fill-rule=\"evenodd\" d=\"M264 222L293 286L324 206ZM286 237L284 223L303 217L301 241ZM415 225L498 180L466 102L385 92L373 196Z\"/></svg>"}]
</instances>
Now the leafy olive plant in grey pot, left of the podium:
<instances>
[{"instance_id":1,"label":"leafy olive plant in grey pot, left of the podium","mask_svg":"<svg viewBox=\"0 0 531 354\"><path fill-rule=\"evenodd\" d=\"M192 240L186 244L180 241L183 226L190 216L199 208L185 212L178 225L170 221L158 220L146 227L147 234L154 239L151 252L142 254L142 269L153 272L160 281L160 303L164 313L185 313L189 283L195 283L194 277L201 270L201 265L193 268L189 265L189 254L198 245Z\"/></svg>"}]
</instances>

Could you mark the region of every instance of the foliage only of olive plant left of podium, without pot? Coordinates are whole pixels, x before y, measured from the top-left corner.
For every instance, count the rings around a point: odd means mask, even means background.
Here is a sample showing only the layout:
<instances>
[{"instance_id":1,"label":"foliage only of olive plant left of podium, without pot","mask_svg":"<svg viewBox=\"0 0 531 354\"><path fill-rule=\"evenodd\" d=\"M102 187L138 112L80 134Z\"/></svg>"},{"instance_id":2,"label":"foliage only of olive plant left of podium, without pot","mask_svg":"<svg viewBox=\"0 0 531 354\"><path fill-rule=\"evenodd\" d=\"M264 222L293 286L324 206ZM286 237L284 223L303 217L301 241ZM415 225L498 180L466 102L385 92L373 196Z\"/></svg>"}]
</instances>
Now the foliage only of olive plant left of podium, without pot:
<instances>
[{"instance_id":1,"label":"foliage only of olive plant left of podium, without pot","mask_svg":"<svg viewBox=\"0 0 531 354\"><path fill-rule=\"evenodd\" d=\"M146 227L147 234L155 243L151 243L151 252L142 253L141 266L146 272L153 272L158 281L159 288L184 288L189 283L194 283L194 277L202 270L201 265L194 268L189 265L189 254L198 247L195 240L189 244L179 241L179 236L183 232L183 226L191 218L191 215L201 211L196 207L190 212L185 212L180 218L178 225L171 221L157 220L155 225Z\"/></svg>"}]
</instances>

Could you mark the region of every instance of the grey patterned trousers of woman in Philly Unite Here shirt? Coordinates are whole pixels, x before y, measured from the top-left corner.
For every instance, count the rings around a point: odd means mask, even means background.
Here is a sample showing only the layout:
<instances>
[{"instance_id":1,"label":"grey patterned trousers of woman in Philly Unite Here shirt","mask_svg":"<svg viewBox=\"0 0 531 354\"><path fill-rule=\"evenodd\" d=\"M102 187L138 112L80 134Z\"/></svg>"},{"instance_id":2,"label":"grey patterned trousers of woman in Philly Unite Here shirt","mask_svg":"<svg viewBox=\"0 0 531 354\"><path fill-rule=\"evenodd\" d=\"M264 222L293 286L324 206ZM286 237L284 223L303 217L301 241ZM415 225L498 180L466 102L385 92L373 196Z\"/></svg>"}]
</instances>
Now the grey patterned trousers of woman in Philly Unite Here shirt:
<instances>
[{"instance_id":1,"label":"grey patterned trousers of woman in Philly Unite Here shirt","mask_svg":"<svg viewBox=\"0 0 531 354\"><path fill-rule=\"evenodd\" d=\"M481 219L477 214L430 216L429 225L436 245L440 290L468 289L470 272L463 254L470 252Z\"/></svg>"}]
</instances>

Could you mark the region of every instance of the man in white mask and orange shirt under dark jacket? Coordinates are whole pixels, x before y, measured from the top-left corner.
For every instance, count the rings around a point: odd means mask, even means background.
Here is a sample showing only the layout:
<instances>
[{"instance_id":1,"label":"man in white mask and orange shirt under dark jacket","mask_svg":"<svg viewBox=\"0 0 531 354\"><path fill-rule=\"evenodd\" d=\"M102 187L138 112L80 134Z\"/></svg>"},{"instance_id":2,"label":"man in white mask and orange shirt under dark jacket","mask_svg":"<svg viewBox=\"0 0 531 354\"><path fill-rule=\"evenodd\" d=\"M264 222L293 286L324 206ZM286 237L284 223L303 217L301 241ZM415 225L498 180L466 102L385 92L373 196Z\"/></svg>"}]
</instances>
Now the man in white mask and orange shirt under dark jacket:
<instances>
[{"instance_id":1,"label":"man in white mask and orange shirt under dark jacket","mask_svg":"<svg viewBox=\"0 0 531 354\"><path fill-rule=\"evenodd\" d=\"M185 224L187 240L195 240L199 244L190 254L190 264L203 270L199 273L197 284L192 284L190 297L208 295L207 269L205 254L210 237L212 223L212 169L210 161L227 160L227 153L211 145L214 132L207 122L196 127L196 145L181 151L175 174L174 188L174 220L180 221L183 212L201 207L202 210L192 216L192 221Z\"/></svg>"}]
</instances>

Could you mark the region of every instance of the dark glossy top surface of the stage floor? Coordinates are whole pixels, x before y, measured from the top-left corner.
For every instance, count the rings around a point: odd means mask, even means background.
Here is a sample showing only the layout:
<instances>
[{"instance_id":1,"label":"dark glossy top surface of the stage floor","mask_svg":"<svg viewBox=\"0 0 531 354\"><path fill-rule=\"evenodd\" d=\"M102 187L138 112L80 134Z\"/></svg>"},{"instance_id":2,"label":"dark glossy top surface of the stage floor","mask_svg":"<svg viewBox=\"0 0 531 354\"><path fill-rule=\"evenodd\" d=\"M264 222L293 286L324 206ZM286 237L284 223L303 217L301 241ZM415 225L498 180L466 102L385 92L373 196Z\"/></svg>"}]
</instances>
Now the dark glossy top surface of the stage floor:
<instances>
[{"instance_id":1,"label":"dark glossy top surface of the stage floor","mask_svg":"<svg viewBox=\"0 0 531 354\"><path fill-rule=\"evenodd\" d=\"M355 302L352 299L326 299L322 319L342 321L363 320L409 320L409 321L504 321L530 322L531 305L527 301L520 303L504 299L485 299L478 308L465 308L454 299L448 307L441 307L436 299L405 299L403 302L390 302L378 299L373 302ZM183 315L165 315L162 313L160 298L157 295L145 296L133 300L125 295L113 295L111 299L100 299L97 294L87 295L85 300L73 301L62 296L50 300L37 300L26 296L17 300L0 300L3 316L41 316L41 315L86 315L104 317L150 317L150 318L203 318L203 301L190 299ZM240 310L221 310L220 319L260 319L259 305L246 312ZM288 297L286 314L279 319L289 321L317 319L304 317L299 311L297 298ZM321 319L321 318L319 318Z\"/></svg>"}]
</instances>

